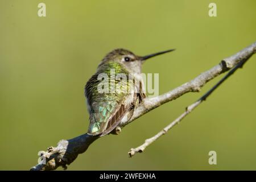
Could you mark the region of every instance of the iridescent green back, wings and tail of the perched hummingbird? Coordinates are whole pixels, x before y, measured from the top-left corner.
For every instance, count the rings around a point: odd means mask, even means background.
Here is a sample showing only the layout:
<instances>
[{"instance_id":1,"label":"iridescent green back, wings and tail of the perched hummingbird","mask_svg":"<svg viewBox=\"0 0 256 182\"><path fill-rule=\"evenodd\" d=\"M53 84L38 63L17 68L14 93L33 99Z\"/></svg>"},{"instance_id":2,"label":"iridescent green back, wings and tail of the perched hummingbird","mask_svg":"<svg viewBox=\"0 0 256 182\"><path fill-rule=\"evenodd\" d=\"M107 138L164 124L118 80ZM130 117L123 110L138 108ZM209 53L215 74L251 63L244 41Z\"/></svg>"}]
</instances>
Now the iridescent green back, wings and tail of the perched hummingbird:
<instances>
[{"instance_id":1,"label":"iridescent green back, wings and tail of the perched hummingbird","mask_svg":"<svg viewBox=\"0 0 256 182\"><path fill-rule=\"evenodd\" d=\"M114 69L114 75L110 75L110 69ZM98 92L98 84L101 82L101 80L98 80L100 73L106 73L109 82L114 82L109 84L109 90L113 89L112 86L115 86L114 93ZM122 89L123 86L118 85L119 80L115 80L118 73L125 74L127 78L129 76L129 72L121 64L108 61L101 65L97 73L90 78L85 86L85 95L90 113L88 134L105 135L110 133L118 125L127 110L130 109L130 105L127 105L125 101L130 99L130 102L132 102L134 93L117 92L117 89Z\"/></svg>"}]
</instances>

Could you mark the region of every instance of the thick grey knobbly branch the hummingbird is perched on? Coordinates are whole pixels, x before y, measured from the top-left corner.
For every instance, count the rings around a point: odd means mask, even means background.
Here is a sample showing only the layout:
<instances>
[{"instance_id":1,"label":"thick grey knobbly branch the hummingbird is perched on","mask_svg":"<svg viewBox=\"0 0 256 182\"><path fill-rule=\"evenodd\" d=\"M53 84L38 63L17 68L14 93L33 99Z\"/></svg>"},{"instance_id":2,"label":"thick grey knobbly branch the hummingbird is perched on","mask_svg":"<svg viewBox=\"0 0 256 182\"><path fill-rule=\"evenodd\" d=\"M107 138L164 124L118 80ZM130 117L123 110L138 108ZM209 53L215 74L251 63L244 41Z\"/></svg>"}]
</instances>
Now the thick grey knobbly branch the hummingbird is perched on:
<instances>
[{"instance_id":1,"label":"thick grey knobbly branch the hummingbird is perched on","mask_svg":"<svg viewBox=\"0 0 256 182\"><path fill-rule=\"evenodd\" d=\"M199 92L200 88L203 87L208 81L235 67L237 64L241 63L241 61L249 59L249 57L255 52L256 42L251 46L243 49L242 51L236 53L236 55L222 60L220 64L209 69L209 71L201 73L193 80L186 82L174 90L171 90L170 92L167 92L158 97L144 99L141 105L135 107L133 116L129 119L126 115L122 119L119 127L117 127L113 133L118 134L121 131L121 127L124 127L135 119L141 117L143 114L146 114L148 111L151 111L152 109L155 109L156 107L159 107L166 102L175 100L176 98L188 92ZM195 108L199 104L196 102L196 105L188 107L188 110ZM182 117L182 115L180 117ZM37 164L35 167L32 167L31 170L54 170L60 166L64 167L65 169L67 168L67 164L71 164L73 160L77 158L77 155L85 152L89 145L96 139L98 139L98 137L84 134L73 139L60 140L60 142L57 144L57 147L49 147L47 151L39 152L44 163Z\"/></svg>"}]
</instances>

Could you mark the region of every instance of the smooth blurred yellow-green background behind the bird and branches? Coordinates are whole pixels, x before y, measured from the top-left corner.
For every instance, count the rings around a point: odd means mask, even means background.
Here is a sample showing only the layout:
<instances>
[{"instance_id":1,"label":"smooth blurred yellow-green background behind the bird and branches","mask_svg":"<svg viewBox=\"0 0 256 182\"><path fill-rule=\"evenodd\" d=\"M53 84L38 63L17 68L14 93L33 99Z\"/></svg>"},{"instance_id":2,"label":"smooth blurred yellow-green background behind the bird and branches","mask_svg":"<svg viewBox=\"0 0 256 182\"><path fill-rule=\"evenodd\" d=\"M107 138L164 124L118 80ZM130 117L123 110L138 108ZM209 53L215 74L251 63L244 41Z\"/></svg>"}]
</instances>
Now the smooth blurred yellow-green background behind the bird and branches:
<instances>
[{"instance_id":1,"label":"smooth blurred yellow-green background behind the bird and branches","mask_svg":"<svg viewBox=\"0 0 256 182\"><path fill-rule=\"evenodd\" d=\"M47 16L37 15L46 3ZM217 4L210 18L208 5ZM27 170L37 153L86 132L84 85L114 48L145 55L159 93L191 80L256 40L256 1L0 1L0 169ZM180 125L128 158L201 93L143 115L97 140L69 170L256 169L256 55ZM208 152L217 152L217 165Z\"/></svg>"}]
</instances>

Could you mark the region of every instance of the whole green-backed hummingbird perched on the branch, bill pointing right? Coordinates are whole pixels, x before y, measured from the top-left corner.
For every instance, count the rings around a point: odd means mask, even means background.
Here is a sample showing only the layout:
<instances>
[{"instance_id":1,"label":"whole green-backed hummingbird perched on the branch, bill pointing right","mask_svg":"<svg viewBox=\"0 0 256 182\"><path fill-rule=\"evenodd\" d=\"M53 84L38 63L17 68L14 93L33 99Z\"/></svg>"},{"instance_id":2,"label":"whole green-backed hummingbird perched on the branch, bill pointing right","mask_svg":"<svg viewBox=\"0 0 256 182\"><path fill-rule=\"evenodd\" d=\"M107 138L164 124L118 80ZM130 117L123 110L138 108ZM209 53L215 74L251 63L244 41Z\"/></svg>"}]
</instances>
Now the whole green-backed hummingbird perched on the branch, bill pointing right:
<instances>
[{"instance_id":1,"label":"whole green-backed hummingbird perched on the branch, bill pointing right","mask_svg":"<svg viewBox=\"0 0 256 182\"><path fill-rule=\"evenodd\" d=\"M89 112L89 135L102 137L111 133L127 114L128 118L133 115L137 104L142 103L146 98L144 92L144 83L141 77L142 64L151 57L162 55L163 53L174 51L169 49L152 53L146 56L138 56L126 49L118 48L109 52L98 65L96 73L86 82L85 97ZM114 74L111 72L114 70ZM98 86L102 81L99 75L105 74L110 77L108 83L115 88L113 92L98 92ZM121 79L117 75L122 74L130 78L133 75L133 81L126 82L130 92L118 92ZM135 84L135 82L139 84ZM109 90L109 88L107 89Z\"/></svg>"}]
</instances>

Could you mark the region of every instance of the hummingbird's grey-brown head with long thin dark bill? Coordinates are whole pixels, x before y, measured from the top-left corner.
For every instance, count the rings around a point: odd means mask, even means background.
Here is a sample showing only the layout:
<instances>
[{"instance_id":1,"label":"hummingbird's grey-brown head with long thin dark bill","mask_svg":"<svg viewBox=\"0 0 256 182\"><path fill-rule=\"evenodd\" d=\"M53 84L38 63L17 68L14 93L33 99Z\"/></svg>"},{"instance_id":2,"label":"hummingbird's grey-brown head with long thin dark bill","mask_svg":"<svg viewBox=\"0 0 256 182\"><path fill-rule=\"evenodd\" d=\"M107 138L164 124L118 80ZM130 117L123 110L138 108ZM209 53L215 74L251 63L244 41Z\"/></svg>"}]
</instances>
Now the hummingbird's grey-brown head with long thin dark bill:
<instances>
[{"instance_id":1,"label":"hummingbird's grey-brown head with long thin dark bill","mask_svg":"<svg viewBox=\"0 0 256 182\"><path fill-rule=\"evenodd\" d=\"M144 63L145 60L174 50L175 49L170 49L167 51L157 52L146 56L137 56L133 52L126 49L114 49L104 57L100 65L108 63L109 61L114 61L122 64L130 73L141 73L141 65L142 63Z\"/></svg>"}]
</instances>

